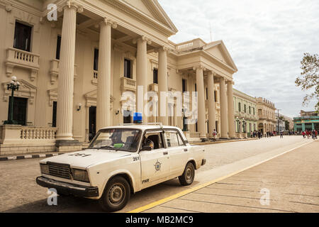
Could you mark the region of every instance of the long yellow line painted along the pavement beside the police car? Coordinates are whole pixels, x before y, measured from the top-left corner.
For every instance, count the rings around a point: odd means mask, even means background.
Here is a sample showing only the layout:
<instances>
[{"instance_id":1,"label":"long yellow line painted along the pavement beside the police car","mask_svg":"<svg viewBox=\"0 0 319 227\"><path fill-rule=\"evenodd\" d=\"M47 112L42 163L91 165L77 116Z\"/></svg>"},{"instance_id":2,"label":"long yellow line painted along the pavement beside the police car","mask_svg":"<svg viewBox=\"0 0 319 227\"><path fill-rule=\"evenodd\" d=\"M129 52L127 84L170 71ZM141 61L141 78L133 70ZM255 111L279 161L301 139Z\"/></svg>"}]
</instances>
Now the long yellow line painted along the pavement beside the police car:
<instances>
[{"instance_id":1,"label":"long yellow line painted along the pavement beside the police car","mask_svg":"<svg viewBox=\"0 0 319 227\"><path fill-rule=\"evenodd\" d=\"M311 141L311 142L309 142L309 143L313 143L313 141ZM146 210L151 209L151 208L153 208L153 207L155 207L155 206L159 206L159 205L164 204L164 203L166 203L166 202L168 202L168 201L172 201L173 199L177 199L177 198L179 198L179 197L181 197L181 196L184 196L184 195L186 195L186 194L189 194L189 193L191 193L191 192L195 192L195 191L197 191L197 190L199 190L199 189L202 189L203 187L206 187L206 186L208 186L208 185L210 185L210 184L214 184L214 183L219 182L219 181L221 181L221 180L223 180L223 179L226 179L226 178L228 178L228 177L232 177L233 175L237 175L238 173L243 172L243 171L245 171L245 170L249 170L249 169L251 169L252 167L255 167L255 166L260 165L260 164L262 164L262 163L264 163L264 162L267 162L267 161L269 161L269 160L272 160L272 159L274 159L274 158L276 158L276 157L279 157L279 156L281 156L281 155L284 155L284 154L286 154L286 153L289 153L289 152L291 152L292 150L296 150L296 149L298 149L298 148L301 148L301 147L303 147L304 145L308 145L309 143L305 143L305 144L300 145L300 146L298 146L298 147L296 147L296 148L292 148L291 150L287 150L287 151L285 151L284 153L280 153L279 155L275 155L274 157L270 157L270 158L268 158L267 160L263 160L263 161L261 161L261 162L257 162L256 164L251 165L250 167L246 167L246 168L244 168L243 170L238 170L238 171L233 172L233 173L231 173L231 174L229 174L229 175L226 175L226 176L223 176L223 177L219 177L218 179L213 179L213 180L210 181L210 182L206 182L206 183L201 184L201 185L198 185L198 186L196 186L196 187L192 187L191 189L186 189L186 190L183 191L183 192L179 192L179 193L174 194L174 195L172 195L172 196L169 196L169 197L167 197L167 198L164 198L164 199L161 199L161 200L152 202L151 204L147 204L147 205L145 205L145 206L141 206L140 208L134 209L134 210L132 210L132 211L128 211L127 213L140 213L140 212L142 212L142 211L146 211Z\"/></svg>"}]
</instances>

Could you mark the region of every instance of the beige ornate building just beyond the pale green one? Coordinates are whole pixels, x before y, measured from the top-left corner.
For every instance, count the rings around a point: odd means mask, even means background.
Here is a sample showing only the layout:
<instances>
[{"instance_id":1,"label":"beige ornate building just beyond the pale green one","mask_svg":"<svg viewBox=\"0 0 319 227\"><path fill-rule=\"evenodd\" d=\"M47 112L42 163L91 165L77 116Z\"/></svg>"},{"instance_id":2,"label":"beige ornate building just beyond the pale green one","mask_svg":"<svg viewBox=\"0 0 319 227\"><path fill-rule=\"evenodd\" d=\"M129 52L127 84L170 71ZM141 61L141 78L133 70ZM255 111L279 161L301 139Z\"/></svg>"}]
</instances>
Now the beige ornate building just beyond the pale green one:
<instances>
[{"instance_id":1,"label":"beige ornate building just beyond the pale green one","mask_svg":"<svg viewBox=\"0 0 319 227\"><path fill-rule=\"evenodd\" d=\"M271 101L257 98L257 111L258 111L258 130L263 134L276 131L276 107Z\"/></svg>"}]
</instances>

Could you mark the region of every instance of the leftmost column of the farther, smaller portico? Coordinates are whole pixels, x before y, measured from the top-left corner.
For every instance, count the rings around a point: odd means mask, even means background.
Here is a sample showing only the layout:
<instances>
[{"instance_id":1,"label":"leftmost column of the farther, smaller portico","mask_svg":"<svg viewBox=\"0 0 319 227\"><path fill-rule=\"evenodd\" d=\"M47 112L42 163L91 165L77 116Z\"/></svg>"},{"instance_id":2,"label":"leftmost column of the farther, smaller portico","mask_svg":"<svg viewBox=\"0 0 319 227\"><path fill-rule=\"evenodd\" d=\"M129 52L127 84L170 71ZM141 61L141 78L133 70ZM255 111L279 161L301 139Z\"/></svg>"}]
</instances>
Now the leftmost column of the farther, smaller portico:
<instances>
[{"instance_id":1,"label":"leftmost column of the farther, smaller portico","mask_svg":"<svg viewBox=\"0 0 319 227\"><path fill-rule=\"evenodd\" d=\"M206 138L206 126L205 126L205 94L203 85L203 67L196 67L196 85L197 85L197 104L198 104L198 116L197 125L200 138Z\"/></svg>"}]
</instances>

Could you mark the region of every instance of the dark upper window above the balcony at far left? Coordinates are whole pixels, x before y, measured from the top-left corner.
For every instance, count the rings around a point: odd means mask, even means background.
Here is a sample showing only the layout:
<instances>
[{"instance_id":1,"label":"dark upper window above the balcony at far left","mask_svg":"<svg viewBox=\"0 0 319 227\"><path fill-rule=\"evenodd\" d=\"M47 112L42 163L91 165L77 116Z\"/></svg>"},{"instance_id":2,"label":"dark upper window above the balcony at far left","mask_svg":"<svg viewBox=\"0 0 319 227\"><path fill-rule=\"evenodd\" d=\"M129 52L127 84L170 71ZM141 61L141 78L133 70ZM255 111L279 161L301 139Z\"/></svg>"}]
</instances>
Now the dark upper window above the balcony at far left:
<instances>
[{"instance_id":1,"label":"dark upper window above the balcony at far left","mask_svg":"<svg viewBox=\"0 0 319 227\"><path fill-rule=\"evenodd\" d=\"M32 27L16 22L13 48L30 52Z\"/></svg>"}]
</instances>

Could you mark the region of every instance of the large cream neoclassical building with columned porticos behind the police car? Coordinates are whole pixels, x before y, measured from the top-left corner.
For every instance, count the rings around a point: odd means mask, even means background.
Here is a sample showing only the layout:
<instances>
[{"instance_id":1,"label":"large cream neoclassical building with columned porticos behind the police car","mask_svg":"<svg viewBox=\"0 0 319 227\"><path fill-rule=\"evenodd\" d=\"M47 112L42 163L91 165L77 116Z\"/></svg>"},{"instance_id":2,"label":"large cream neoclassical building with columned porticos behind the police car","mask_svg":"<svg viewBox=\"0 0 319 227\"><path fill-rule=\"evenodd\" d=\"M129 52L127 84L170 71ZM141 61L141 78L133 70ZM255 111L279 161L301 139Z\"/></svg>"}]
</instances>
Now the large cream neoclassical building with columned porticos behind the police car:
<instances>
[{"instance_id":1,"label":"large cream neoclassical building with columned porticos behind the police car","mask_svg":"<svg viewBox=\"0 0 319 227\"><path fill-rule=\"evenodd\" d=\"M223 41L172 43L177 28L156 0L0 0L0 26L0 123L9 113L6 84L12 76L21 83L13 99L21 126L0 126L0 155L78 149L99 128L132 122L122 94L138 96L139 86L198 92L196 124L185 125L177 99L160 95L157 107L166 103L174 116L145 122L179 126L190 140L214 128L235 138L237 67ZM149 101L136 100L137 109Z\"/></svg>"}]
</instances>

